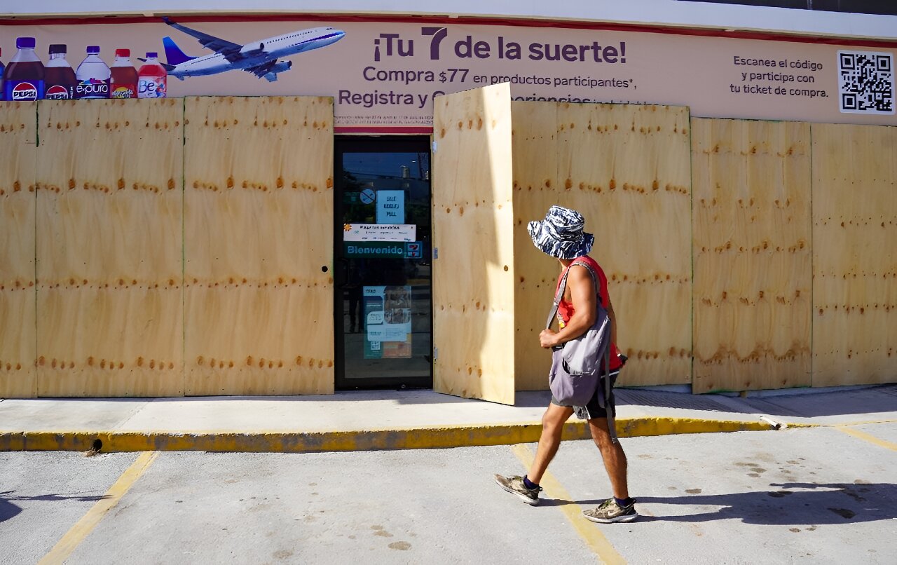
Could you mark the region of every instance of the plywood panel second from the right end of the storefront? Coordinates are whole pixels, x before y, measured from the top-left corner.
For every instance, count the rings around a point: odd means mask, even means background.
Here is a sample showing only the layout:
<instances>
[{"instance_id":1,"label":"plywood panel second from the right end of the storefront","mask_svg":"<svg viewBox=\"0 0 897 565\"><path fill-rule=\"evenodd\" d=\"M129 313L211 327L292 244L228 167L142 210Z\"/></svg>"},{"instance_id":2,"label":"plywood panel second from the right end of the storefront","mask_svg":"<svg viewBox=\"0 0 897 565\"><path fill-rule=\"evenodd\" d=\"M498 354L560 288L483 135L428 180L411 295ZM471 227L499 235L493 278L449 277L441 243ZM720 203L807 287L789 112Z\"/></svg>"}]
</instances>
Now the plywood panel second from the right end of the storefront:
<instances>
[{"instance_id":1,"label":"plywood panel second from the right end of the storefront","mask_svg":"<svg viewBox=\"0 0 897 565\"><path fill-rule=\"evenodd\" d=\"M695 392L806 387L810 130L693 119Z\"/></svg>"}]
</instances>

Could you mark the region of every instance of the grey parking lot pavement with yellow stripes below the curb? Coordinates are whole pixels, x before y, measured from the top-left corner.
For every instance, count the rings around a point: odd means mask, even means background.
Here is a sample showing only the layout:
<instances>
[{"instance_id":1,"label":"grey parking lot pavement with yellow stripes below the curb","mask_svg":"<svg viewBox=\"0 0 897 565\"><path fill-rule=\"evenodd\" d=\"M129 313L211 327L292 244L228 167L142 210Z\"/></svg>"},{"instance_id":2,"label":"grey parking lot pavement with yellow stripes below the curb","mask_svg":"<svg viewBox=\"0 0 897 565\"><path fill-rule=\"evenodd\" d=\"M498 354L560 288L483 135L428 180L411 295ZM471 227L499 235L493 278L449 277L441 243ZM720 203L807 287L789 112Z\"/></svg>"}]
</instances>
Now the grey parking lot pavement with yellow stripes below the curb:
<instances>
[{"instance_id":1,"label":"grey parking lot pavement with yellow stripes below the curb","mask_svg":"<svg viewBox=\"0 0 897 565\"><path fill-rule=\"evenodd\" d=\"M0 453L0 562L39 562L60 545L69 563L891 564L897 555L897 423L623 447L641 517L612 525L580 515L610 491L589 440L562 444L536 507L492 479L522 474L534 444Z\"/></svg>"}]
</instances>

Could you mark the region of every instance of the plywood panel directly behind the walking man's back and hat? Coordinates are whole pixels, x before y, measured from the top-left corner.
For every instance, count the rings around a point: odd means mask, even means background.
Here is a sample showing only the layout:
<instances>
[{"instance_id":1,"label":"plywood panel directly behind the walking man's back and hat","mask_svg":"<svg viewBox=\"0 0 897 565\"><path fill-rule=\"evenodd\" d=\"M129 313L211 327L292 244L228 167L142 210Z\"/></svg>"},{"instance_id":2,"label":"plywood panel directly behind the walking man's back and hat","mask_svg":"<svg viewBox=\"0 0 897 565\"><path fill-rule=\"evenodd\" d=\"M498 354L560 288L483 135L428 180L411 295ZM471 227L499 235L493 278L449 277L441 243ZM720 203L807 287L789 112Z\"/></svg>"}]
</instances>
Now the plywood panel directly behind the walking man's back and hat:
<instances>
[{"instance_id":1,"label":"plywood panel directly behind the walking man's back and hat","mask_svg":"<svg viewBox=\"0 0 897 565\"><path fill-rule=\"evenodd\" d=\"M595 233L622 385L687 383L692 370L691 155L686 108L558 105L556 204Z\"/></svg>"}]
</instances>

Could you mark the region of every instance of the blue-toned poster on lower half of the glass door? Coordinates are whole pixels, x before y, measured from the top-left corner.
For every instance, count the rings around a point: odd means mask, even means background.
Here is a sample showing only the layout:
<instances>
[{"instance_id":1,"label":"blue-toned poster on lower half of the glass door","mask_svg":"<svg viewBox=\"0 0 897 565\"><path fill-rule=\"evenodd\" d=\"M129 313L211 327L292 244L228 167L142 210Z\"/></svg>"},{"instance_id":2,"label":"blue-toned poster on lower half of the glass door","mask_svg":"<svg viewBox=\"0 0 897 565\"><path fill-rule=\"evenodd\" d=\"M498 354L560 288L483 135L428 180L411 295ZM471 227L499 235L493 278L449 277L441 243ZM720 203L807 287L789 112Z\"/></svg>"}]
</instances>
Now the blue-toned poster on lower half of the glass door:
<instances>
[{"instance_id":1,"label":"blue-toned poster on lower half of the glass door","mask_svg":"<svg viewBox=\"0 0 897 565\"><path fill-rule=\"evenodd\" d=\"M365 286L365 359L411 358L411 286Z\"/></svg>"}]
</instances>

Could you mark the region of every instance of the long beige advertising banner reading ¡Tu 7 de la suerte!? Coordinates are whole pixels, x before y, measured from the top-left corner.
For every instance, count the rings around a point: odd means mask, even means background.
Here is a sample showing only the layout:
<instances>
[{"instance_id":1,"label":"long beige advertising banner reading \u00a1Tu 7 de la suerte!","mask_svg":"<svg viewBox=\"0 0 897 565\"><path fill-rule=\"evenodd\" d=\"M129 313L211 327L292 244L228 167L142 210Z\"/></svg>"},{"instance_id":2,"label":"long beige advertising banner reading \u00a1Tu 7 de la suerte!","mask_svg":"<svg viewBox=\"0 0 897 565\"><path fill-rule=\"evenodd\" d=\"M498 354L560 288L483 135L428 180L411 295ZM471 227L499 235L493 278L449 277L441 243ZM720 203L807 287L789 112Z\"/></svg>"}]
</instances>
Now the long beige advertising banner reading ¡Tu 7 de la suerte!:
<instances>
[{"instance_id":1,"label":"long beige advertising banner reading \u00a1Tu 7 de la suerte!","mask_svg":"<svg viewBox=\"0 0 897 565\"><path fill-rule=\"evenodd\" d=\"M34 38L22 45L35 47L17 50L21 38ZM29 57L48 64L50 45L66 48L65 60L77 74L66 79L70 91L81 85L83 92L144 96L330 96L335 126L344 132L427 131L434 97L494 83L510 83L514 100L669 104L688 106L695 117L897 125L897 49L872 40L867 47L338 17L7 24L0 27L0 48L4 63L15 67L4 88L7 100L49 90L52 85L37 83ZM130 58L117 57L125 49ZM134 65L138 82L117 89L106 67L124 76L127 65ZM127 74L133 82L134 74Z\"/></svg>"}]
</instances>

